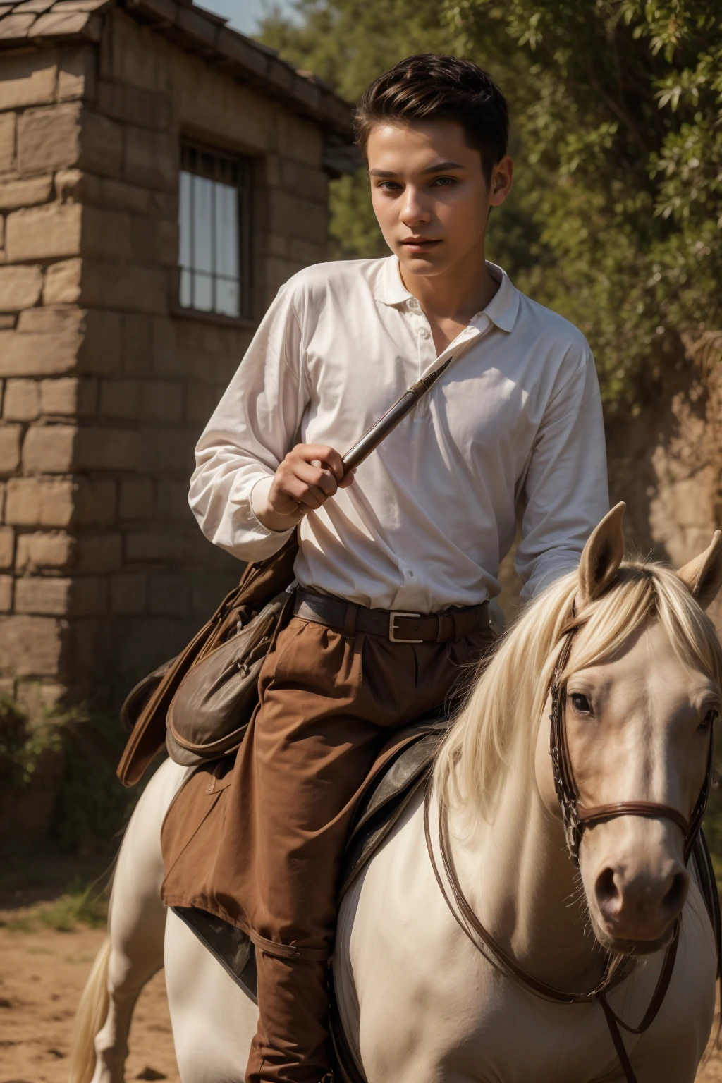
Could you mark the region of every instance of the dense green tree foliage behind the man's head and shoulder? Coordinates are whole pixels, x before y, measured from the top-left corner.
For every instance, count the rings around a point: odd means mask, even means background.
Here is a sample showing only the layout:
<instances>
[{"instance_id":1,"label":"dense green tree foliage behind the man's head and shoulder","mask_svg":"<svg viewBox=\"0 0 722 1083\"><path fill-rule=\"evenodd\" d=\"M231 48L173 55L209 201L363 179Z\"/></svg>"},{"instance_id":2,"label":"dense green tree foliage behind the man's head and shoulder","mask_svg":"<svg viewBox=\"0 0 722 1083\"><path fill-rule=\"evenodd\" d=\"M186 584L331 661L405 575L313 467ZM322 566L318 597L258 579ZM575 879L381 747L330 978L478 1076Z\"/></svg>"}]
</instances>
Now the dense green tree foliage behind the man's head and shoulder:
<instances>
[{"instance_id":1,"label":"dense green tree foliage behind the man's head and shoulder","mask_svg":"<svg viewBox=\"0 0 722 1083\"><path fill-rule=\"evenodd\" d=\"M263 40L347 99L401 56L469 55L512 106L514 192L489 255L574 321L608 407L720 326L719 0L299 0ZM363 175L334 182L332 255L384 251Z\"/></svg>"}]
</instances>

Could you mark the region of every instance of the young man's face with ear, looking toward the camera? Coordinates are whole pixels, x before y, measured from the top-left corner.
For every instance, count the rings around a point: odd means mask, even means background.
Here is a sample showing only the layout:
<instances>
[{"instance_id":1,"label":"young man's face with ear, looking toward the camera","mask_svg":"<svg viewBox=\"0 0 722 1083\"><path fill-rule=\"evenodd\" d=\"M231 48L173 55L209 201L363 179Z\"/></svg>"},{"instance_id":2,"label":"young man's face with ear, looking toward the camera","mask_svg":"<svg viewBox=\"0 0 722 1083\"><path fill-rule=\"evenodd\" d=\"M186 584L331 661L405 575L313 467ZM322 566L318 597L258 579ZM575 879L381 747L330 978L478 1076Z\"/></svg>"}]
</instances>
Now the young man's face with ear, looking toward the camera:
<instances>
[{"instance_id":1,"label":"young man's face with ear, looking toward the camera","mask_svg":"<svg viewBox=\"0 0 722 1083\"><path fill-rule=\"evenodd\" d=\"M511 158L487 183L482 156L456 120L376 125L367 154L381 232L412 275L443 273L483 245L489 207L511 188Z\"/></svg>"}]
</instances>

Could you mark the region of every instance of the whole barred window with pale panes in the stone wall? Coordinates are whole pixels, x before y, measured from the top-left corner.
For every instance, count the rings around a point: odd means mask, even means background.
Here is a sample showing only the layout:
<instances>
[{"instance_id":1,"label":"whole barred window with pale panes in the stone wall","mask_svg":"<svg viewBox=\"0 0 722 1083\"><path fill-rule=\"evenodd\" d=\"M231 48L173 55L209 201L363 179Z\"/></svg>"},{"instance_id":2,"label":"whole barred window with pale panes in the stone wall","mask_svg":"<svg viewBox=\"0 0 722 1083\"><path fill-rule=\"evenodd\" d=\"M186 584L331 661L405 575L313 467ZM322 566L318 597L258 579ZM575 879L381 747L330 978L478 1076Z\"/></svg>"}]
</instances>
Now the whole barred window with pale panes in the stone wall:
<instances>
[{"instance_id":1,"label":"whole barred window with pale panes in the stone wall","mask_svg":"<svg viewBox=\"0 0 722 1083\"><path fill-rule=\"evenodd\" d=\"M250 315L250 161L194 143L181 146L183 309Z\"/></svg>"}]
</instances>

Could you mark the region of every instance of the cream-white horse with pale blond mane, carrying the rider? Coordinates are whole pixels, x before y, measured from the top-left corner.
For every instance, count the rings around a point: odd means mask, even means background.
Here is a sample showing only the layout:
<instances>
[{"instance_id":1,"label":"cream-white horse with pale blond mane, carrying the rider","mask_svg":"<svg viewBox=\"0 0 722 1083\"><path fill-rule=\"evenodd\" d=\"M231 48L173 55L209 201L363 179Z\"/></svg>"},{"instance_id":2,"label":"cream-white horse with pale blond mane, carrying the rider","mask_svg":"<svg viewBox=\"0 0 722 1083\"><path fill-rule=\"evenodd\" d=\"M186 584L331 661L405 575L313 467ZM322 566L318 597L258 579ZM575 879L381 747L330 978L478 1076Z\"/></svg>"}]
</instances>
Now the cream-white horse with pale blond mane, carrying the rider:
<instances>
[{"instance_id":1,"label":"cream-white horse with pale blond mane, carrying the rider","mask_svg":"<svg viewBox=\"0 0 722 1083\"><path fill-rule=\"evenodd\" d=\"M437 757L430 836L442 870L441 813L476 918L533 979L582 993L600 981L607 952L635 960L608 993L630 1026L647 1009L681 919L661 1007L623 1041L638 1083L693 1083L712 1025L716 951L683 832L664 814L603 819L583 833L577 871L549 756L549 689L562 655L566 743L586 806L654 801L686 819L704 784L722 651L703 606L722 580L720 535L680 573L619 567L622 510L596 529L579 573L528 606L477 680ZM108 939L78 1012L73 1083L121 1083L134 1002L163 964L183 1083L242 1083L255 1005L160 902L160 827L185 775L163 764L126 833ZM339 916L339 1010L368 1083L630 1079L600 1004L535 995L478 950L459 916L435 878L419 798Z\"/></svg>"}]
</instances>

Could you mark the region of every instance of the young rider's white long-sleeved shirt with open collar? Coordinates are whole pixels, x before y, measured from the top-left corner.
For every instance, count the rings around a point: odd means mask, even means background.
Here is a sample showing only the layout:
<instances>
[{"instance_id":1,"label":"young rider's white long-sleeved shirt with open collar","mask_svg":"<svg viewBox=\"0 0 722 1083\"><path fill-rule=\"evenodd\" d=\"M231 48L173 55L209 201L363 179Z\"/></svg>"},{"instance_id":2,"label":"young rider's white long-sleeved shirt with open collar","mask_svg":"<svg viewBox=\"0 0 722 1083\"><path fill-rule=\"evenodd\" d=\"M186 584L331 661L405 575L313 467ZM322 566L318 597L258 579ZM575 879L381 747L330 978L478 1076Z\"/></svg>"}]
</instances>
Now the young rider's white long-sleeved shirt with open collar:
<instances>
[{"instance_id":1,"label":"young rider's white long-sleeved shirt with open collar","mask_svg":"<svg viewBox=\"0 0 722 1083\"><path fill-rule=\"evenodd\" d=\"M499 289L436 356L394 256L321 263L278 292L196 448L189 503L205 535L242 560L289 533L253 507L297 443L356 443L406 388L454 361L433 389L300 525L302 586L430 613L500 590L523 508L516 569L528 598L576 566L608 509L602 406L580 331Z\"/></svg>"}]
</instances>

